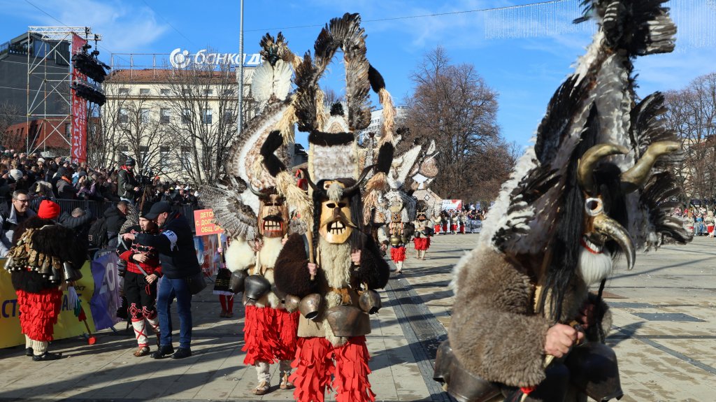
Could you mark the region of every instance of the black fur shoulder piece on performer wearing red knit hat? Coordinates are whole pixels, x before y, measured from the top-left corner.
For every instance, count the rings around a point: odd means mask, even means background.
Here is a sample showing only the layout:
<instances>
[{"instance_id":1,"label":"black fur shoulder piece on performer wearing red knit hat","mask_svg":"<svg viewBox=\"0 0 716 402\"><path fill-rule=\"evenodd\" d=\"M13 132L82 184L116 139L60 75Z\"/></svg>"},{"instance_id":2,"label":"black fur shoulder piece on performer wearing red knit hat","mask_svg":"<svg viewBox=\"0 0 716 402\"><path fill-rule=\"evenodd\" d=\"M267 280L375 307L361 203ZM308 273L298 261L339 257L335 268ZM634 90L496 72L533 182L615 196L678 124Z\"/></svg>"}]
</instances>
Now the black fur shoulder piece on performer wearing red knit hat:
<instances>
[{"instance_id":1,"label":"black fur shoulder piece on performer wearing red knit hat","mask_svg":"<svg viewBox=\"0 0 716 402\"><path fill-rule=\"evenodd\" d=\"M38 230L32 235L32 244L40 253L72 263L75 269L82 268L87 255L87 250L77 241L72 229L61 225Z\"/></svg>"}]
</instances>

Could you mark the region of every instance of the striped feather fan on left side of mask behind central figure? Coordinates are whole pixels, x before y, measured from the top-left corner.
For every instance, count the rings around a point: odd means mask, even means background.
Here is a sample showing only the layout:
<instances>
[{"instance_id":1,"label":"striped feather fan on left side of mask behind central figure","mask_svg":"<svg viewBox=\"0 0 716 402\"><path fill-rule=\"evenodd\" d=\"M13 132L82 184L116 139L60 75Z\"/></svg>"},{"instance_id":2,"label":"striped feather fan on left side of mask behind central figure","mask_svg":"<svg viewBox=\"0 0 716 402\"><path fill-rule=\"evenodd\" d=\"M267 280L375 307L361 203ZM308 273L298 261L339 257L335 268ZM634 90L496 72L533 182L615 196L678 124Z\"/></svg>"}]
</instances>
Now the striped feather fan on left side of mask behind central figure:
<instances>
[{"instance_id":1,"label":"striped feather fan on left side of mask behind central figure","mask_svg":"<svg viewBox=\"0 0 716 402\"><path fill-rule=\"evenodd\" d=\"M241 192L245 185L223 190L203 185L200 187L201 200L206 207L214 211L214 219L227 235L237 238L253 239L256 235L256 213L241 202Z\"/></svg>"}]
</instances>

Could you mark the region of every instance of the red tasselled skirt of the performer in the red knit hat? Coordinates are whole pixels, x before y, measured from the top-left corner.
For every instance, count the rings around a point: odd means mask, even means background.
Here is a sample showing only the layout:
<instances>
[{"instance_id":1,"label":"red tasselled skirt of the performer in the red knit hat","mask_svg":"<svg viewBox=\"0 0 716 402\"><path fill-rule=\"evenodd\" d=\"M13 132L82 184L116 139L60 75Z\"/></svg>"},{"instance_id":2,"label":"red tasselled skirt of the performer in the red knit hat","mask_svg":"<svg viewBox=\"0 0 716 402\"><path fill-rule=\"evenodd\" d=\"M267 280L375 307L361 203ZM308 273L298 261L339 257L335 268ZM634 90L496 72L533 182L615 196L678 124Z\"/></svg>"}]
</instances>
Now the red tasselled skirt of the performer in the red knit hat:
<instances>
[{"instance_id":1,"label":"red tasselled skirt of the performer in the red knit hat","mask_svg":"<svg viewBox=\"0 0 716 402\"><path fill-rule=\"evenodd\" d=\"M62 305L62 290L44 289L40 293L15 290L20 310L22 333L32 340L49 342L57 324L59 308Z\"/></svg>"}]
</instances>

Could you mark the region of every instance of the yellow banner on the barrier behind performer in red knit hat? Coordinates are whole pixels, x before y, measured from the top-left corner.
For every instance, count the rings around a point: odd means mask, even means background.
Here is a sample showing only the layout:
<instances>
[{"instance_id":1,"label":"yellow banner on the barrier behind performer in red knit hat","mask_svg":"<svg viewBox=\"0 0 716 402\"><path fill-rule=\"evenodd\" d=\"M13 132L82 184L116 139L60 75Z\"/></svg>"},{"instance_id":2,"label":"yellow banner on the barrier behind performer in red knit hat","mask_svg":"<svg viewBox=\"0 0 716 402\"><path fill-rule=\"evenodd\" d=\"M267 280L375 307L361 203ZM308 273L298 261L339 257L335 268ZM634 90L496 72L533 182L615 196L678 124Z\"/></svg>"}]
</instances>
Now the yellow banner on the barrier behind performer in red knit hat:
<instances>
[{"instance_id":1,"label":"yellow banner on the barrier behind performer in red knit hat","mask_svg":"<svg viewBox=\"0 0 716 402\"><path fill-rule=\"evenodd\" d=\"M0 348L9 348L15 345L24 345L25 336L20 333L19 311L17 306L17 295L12 287L10 273L5 270L6 259L0 259ZM82 300L84 315L87 315L87 325L92 332L95 331L95 321L92 320L92 311L89 310L89 300L92 293L95 293L95 280L92 278L92 270L89 261L82 265L82 279L77 281L74 288ZM59 313L57 324L54 325L54 338L64 339L87 333L84 323L74 316L74 310L69 308L67 290L62 295L62 309Z\"/></svg>"}]
</instances>

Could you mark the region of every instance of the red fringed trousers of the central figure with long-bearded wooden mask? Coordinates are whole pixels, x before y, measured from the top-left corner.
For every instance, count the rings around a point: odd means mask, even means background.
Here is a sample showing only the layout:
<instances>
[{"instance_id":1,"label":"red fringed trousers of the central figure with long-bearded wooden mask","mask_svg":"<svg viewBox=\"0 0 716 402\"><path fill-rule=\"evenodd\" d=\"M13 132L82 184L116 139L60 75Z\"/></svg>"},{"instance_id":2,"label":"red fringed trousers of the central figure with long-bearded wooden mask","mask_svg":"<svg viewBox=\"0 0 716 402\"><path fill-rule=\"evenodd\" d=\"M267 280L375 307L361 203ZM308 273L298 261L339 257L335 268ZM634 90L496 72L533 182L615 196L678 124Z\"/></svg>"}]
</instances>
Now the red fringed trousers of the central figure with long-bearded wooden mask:
<instances>
[{"instance_id":1,"label":"red fringed trousers of the central figure with long-bearded wooden mask","mask_svg":"<svg viewBox=\"0 0 716 402\"><path fill-rule=\"evenodd\" d=\"M326 338L299 338L296 368L289 381L294 383L297 402L324 402L326 386L336 391L337 402L375 401L368 382L369 361L365 336L348 338L334 347ZM331 376L334 376L331 383Z\"/></svg>"}]
</instances>

